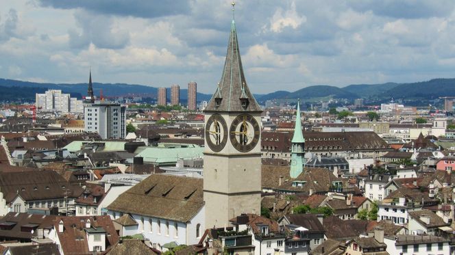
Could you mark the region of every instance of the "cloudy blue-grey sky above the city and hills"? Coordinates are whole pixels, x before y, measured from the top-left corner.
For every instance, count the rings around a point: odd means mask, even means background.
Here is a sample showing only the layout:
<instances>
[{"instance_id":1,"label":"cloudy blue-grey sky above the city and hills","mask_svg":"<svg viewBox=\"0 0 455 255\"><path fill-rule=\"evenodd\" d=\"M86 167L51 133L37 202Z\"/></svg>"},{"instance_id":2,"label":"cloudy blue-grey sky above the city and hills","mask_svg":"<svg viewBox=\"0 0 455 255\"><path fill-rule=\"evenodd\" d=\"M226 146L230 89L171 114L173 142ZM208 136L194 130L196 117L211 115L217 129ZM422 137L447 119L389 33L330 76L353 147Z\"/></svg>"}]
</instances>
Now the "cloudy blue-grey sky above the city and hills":
<instances>
[{"instance_id":1,"label":"cloudy blue-grey sky above the city and hills","mask_svg":"<svg viewBox=\"0 0 455 255\"><path fill-rule=\"evenodd\" d=\"M255 93L455 77L455 1L236 1ZM136 83L212 93L227 0L0 0L0 77Z\"/></svg>"}]
</instances>

